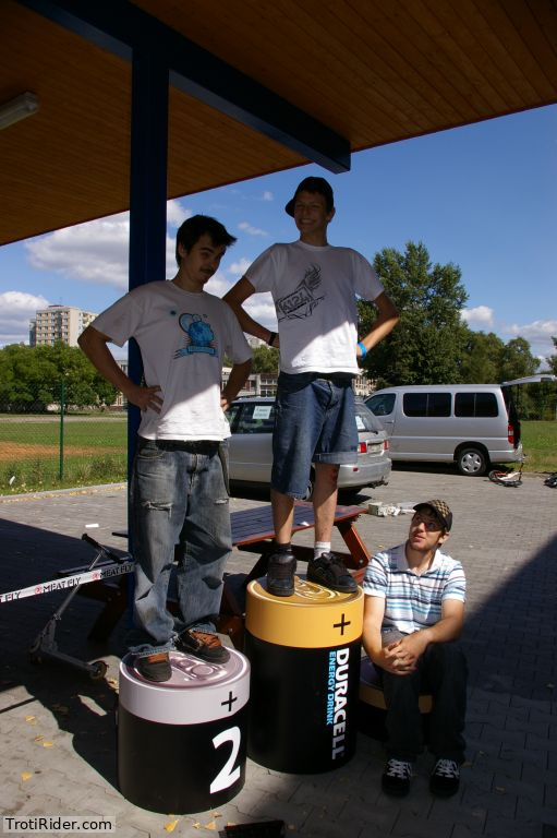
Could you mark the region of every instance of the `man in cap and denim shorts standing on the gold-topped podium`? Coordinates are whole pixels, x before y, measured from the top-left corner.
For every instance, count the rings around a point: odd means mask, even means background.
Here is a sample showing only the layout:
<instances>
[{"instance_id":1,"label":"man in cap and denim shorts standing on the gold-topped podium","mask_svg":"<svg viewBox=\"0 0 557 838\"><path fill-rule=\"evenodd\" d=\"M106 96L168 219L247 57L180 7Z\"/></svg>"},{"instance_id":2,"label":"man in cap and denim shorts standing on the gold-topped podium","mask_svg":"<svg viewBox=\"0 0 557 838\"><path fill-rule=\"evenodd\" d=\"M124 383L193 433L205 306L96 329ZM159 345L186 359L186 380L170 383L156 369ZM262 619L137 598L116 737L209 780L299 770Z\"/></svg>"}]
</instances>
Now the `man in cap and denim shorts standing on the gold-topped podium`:
<instances>
[{"instance_id":1,"label":"man in cap and denim shorts standing on the gold-topped podium","mask_svg":"<svg viewBox=\"0 0 557 838\"><path fill-rule=\"evenodd\" d=\"M294 218L300 239L262 253L225 296L244 332L280 348L271 475L276 538L267 586L275 596L294 592L294 501L305 496L313 464L315 548L307 578L352 592L354 579L330 551L339 465L355 463L358 456L352 379L358 358L389 334L398 313L364 256L328 244L335 206L324 178L305 178L286 212ZM242 307L258 291L273 295L278 335ZM360 342L356 297L373 300L378 310L372 331Z\"/></svg>"}]
</instances>

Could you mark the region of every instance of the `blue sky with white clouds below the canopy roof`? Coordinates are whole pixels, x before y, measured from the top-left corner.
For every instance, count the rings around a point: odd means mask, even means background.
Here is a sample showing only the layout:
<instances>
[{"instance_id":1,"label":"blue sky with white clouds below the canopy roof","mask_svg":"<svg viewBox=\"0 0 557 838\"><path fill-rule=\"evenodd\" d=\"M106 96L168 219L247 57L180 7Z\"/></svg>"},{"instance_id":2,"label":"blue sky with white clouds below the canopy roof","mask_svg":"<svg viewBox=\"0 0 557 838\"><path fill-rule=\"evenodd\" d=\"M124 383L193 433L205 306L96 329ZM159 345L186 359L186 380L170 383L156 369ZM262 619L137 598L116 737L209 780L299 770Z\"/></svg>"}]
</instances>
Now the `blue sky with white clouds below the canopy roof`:
<instances>
[{"instance_id":1,"label":"blue sky with white clouds below the canopy roof","mask_svg":"<svg viewBox=\"0 0 557 838\"><path fill-rule=\"evenodd\" d=\"M337 214L329 241L370 261L422 241L433 263L452 262L469 294L471 328L521 335L534 355L557 336L557 106L361 152L352 169L317 166L270 175L169 202L167 276L189 215L219 218L238 237L207 290L221 296L274 241L296 231L283 206L306 175L326 177ZM28 342L28 320L49 303L98 312L128 288L128 215L0 248L0 346ZM153 277L159 278L159 277ZM251 300L268 326L270 299Z\"/></svg>"}]
</instances>

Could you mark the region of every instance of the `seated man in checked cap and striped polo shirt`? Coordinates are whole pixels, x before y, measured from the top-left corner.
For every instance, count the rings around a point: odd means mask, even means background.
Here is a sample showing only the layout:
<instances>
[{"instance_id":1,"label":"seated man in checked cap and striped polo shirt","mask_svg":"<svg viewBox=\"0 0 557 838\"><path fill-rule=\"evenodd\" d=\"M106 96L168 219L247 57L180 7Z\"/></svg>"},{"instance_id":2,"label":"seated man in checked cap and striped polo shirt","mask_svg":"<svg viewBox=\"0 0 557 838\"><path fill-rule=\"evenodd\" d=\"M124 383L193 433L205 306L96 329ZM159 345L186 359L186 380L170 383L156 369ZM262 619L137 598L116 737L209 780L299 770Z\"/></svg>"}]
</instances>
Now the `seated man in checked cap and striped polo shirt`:
<instances>
[{"instance_id":1,"label":"seated man in checked cap and striped polo shirt","mask_svg":"<svg viewBox=\"0 0 557 838\"><path fill-rule=\"evenodd\" d=\"M429 692L428 747L435 756L432 793L458 791L464 761L467 661L455 643L462 631L465 578L462 565L440 551L452 513L445 501L414 506L405 543L377 553L364 577L364 648L377 668L387 704L387 794L410 790L412 763L422 751L419 708Z\"/></svg>"}]
</instances>

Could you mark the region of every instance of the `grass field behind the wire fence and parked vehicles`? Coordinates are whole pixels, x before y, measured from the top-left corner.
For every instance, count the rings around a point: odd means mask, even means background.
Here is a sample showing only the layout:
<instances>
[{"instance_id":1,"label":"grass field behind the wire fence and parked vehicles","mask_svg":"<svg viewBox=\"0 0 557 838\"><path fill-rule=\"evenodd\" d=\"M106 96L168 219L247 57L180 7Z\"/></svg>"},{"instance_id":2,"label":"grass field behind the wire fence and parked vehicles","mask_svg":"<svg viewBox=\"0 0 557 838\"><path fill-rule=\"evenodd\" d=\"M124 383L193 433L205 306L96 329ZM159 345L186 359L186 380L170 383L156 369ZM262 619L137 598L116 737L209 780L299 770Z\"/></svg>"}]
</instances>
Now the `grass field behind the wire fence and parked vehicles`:
<instances>
[{"instance_id":1,"label":"grass field behind the wire fence and parked vehicles","mask_svg":"<svg viewBox=\"0 0 557 838\"><path fill-rule=\"evenodd\" d=\"M60 479L60 418L0 416L0 494L125 480L125 416L64 420ZM524 471L557 471L557 421L522 422Z\"/></svg>"}]
</instances>

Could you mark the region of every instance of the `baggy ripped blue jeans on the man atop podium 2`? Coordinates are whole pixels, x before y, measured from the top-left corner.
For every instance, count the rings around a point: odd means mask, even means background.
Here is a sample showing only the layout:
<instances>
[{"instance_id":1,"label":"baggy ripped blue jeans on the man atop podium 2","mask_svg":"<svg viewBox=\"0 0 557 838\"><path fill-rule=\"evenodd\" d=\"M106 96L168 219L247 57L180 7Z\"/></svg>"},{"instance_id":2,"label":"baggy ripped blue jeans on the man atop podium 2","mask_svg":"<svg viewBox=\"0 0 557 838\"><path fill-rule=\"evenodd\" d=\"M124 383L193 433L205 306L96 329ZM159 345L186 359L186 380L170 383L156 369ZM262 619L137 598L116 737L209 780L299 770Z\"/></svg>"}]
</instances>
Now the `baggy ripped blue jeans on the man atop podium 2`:
<instances>
[{"instance_id":1,"label":"baggy ripped blue jeans on the man atop podium 2","mask_svg":"<svg viewBox=\"0 0 557 838\"><path fill-rule=\"evenodd\" d=\"M138 656L169 651L186 627L215 630L232 548L226 448L218 442L138 440L131 498L135 630L129 637ZM167 596L177 544L174 618Z\"/></svg>"}]
</instances>

